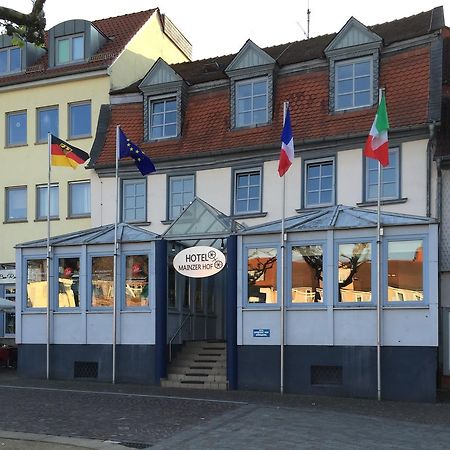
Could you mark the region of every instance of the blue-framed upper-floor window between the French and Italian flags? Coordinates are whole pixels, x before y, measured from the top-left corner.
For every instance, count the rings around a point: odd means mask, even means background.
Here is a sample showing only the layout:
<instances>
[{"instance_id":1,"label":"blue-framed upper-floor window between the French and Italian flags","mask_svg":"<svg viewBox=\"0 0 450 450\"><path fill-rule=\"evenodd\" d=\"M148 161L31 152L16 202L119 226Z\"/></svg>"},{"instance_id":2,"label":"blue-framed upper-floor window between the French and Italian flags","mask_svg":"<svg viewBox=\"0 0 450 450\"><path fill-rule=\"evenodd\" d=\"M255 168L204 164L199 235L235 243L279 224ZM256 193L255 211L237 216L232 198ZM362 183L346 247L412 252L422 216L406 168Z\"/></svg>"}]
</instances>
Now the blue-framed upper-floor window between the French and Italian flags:
<instances>
[{"instance_id":1,"label":"blue-framed upper-floor window between the French and Italian flags","mask_svg":"<svg viewBox=\"0 0 450 450\"><path fill-rule=\"evenodd\" d=\"M334 160L311 161L305 165L305 206L334 203Z\"/></svg>"}]
</instances>

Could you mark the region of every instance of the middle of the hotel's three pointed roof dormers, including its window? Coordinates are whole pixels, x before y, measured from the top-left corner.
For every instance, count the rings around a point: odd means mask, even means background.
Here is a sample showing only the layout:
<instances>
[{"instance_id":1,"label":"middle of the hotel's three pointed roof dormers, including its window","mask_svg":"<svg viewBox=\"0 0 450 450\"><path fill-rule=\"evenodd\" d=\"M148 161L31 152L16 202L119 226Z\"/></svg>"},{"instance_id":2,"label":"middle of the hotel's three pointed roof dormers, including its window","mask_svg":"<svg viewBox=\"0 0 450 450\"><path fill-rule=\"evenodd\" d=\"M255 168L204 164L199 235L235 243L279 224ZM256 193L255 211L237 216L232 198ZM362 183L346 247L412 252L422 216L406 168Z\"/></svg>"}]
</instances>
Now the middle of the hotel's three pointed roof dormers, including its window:
<instances>
[{"instance_id":1,"label":"middle of the hotel's three pointed roof dormers, including its window","mask_svg":"<svg viewBox=\"0 0 450 450\"><path fill-rule=\"evenodd\" d=\"M275 66L276 61L249 39L225 69L231 81L231 128L271 121Z\"/></svg>"}]
</instances>

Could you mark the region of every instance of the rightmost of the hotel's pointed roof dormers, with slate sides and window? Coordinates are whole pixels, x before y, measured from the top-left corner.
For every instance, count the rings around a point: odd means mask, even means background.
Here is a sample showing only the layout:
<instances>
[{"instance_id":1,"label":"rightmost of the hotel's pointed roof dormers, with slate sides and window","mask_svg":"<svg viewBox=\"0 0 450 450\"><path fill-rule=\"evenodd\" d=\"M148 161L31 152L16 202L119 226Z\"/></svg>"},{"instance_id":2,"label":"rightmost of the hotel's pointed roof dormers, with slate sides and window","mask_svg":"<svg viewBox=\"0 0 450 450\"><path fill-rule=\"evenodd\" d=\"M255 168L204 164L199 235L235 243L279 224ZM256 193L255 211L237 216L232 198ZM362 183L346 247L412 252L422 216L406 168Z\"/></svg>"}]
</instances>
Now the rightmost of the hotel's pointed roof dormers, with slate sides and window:
<instances>
[{"instance_id":1,"label":"rightmost of the hotel's pointed roof dormers, with slate sides and window","mask_svg":"<svg viewBox=\"0 0 450 450\"><path fill-rule=\"evenodd\" d=\"M382 38L351 17L325 48L330 63L330 111L371 107L378 100Z\"/></svg>"}]
</instances>

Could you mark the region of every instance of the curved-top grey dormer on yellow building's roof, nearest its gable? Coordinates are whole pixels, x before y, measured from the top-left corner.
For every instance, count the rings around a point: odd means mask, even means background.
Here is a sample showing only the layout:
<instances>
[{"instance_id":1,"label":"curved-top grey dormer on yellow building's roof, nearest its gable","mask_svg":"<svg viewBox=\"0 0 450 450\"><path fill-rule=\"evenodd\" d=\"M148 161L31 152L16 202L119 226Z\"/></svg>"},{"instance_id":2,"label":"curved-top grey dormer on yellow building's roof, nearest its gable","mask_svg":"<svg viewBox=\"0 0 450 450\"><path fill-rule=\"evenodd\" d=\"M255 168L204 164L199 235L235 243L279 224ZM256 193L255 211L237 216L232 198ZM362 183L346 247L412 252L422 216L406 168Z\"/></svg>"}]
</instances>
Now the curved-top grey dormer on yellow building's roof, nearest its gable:
<instances>
[{"instance_id":1,"label":"curved-top grey dormer on yellow building's roof, nearest its gable","mask_svg":"<svg viewBox=\"0 0 450 450\"><path fill-rule=\"evenodd\" d=\"M49 67L84 63L107 42L87 20L67 20L48 32Z\"/></svg>"}]
</instances>

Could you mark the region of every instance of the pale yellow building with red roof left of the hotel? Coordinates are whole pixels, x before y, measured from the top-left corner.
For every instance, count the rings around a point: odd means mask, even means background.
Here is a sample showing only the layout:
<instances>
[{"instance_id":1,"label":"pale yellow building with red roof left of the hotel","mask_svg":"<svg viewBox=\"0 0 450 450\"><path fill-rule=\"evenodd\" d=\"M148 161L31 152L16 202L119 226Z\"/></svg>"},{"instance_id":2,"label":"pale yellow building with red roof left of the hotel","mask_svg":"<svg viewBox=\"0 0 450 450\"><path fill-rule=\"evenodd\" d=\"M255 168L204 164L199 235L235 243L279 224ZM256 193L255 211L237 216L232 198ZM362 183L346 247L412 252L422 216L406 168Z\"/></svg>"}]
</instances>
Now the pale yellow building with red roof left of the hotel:
<instances>
[{"instance_id":1,"label":"pale yellow building with red roof left of the hotel","mask_svg":"<svg viewBox=\"0 0 450 450\"><path fill-rule=\"evenodd\" d=\"M110 91L142 78L158 57L191 57L189 42L158 9L68 20L48 30L45 49L0 36L0 270L14 269L17 243L47 233L47 133L89 151ZM91 226L90 172L52 168L52 234ZM0 284L0 297L14 289Z\"/></svg>"}]
</instances>

